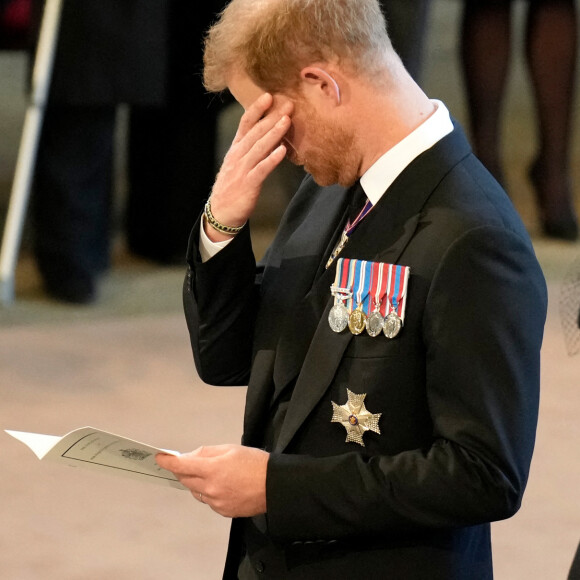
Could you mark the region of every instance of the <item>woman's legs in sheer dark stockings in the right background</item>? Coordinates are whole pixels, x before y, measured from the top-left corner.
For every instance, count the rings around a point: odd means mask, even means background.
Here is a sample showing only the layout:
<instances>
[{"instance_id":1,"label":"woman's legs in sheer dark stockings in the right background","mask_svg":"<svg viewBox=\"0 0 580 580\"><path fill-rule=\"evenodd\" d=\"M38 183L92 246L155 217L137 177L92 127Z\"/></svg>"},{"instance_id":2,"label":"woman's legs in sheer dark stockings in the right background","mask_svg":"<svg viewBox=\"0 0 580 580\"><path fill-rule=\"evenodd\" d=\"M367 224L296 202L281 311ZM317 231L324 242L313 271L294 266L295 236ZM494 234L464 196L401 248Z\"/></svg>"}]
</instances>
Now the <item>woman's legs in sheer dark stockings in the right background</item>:
<instances>
[{"instance_id":1,"label":"woman's legs in sheer dark stockings in the right background","mask_svg":"<svg viewBox=\"0 0 580 580\"><path fill-rule=\"evenodd\" d=\"M576 0L526 0L526 59L537 109L529 168L542 230L578 238L570 176L578 19ZM465 0L461 56L475 153L505 185L501 111L511 55L512 0Z\"/></svg>"}]
</instances>

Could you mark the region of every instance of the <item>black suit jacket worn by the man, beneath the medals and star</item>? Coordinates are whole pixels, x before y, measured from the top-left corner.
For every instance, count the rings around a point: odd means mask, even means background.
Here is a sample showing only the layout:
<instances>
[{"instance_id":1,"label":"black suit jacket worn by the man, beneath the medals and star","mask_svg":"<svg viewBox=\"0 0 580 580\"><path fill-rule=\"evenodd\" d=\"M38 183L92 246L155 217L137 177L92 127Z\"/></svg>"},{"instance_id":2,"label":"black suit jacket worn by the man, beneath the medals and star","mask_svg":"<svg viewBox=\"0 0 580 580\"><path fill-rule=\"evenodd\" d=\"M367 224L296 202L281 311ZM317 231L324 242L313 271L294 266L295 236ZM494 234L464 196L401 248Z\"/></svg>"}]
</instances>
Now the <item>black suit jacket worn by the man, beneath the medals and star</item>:
<instances>
[{"instance_id":1,"label":"black suit jacket worn by the man, beneath the medals and star","mask_svg":"<svg viewBox=\"0 0 580 580\"><path fill-rule=\"evenodd\" d=\"M492 578L489 522L519 508L536 430L547 300L531 242L456 128L342 253L410 266L403 330L336 334L324 263L348 196L307 178L257 270L247 229L201 264L194 228L199 374L248 382L243 443L272 452L268 513L234 522L225 577L245 549L261 577ZM382 413L365 447L331 422L347 388Z\"/></svg>"}]
</instances>

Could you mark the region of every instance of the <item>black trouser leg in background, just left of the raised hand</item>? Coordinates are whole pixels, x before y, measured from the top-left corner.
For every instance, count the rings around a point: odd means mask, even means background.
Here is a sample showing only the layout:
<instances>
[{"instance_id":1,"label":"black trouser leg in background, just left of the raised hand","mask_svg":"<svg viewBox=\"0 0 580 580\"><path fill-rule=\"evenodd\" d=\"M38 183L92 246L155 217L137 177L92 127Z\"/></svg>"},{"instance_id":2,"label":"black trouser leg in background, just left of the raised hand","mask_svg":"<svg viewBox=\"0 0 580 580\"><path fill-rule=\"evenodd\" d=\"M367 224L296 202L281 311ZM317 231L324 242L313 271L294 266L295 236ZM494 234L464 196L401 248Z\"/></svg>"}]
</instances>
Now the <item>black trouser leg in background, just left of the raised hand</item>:
<instances>
[{"instance_id":1,"label":"black trouser leg in background, just left of the raised hand","mask_svg":"<svg viewBox=\"0 0 580 580\"><path fill-rule=\"evenodd\" d=\"M160 262L184 262L192 217L215 179L222 102L203 87L202 42L224 3L169 3L165 106L131 109L127 241Z\"/></svg>"}]
</instances>

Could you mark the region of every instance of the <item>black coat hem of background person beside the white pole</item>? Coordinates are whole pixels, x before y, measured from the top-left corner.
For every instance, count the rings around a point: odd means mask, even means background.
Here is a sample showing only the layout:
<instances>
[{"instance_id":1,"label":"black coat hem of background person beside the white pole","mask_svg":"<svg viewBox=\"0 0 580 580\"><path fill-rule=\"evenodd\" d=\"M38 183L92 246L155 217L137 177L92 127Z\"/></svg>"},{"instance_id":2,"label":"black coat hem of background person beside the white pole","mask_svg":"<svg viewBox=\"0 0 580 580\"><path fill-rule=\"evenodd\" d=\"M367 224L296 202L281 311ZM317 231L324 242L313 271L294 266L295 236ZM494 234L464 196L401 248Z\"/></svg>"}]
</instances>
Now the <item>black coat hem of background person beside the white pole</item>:
<instances>
[{"instance_id":1,"label":"black coat hem of background person beside the white pole","mask_svg":"<svg viewBox=\"0 0 580 580\"><path fill-rule=\"evenodd\" d=\"M172 5L171 0L65 0L50 101L164 104Z\"/></svg>"}]
</instances>

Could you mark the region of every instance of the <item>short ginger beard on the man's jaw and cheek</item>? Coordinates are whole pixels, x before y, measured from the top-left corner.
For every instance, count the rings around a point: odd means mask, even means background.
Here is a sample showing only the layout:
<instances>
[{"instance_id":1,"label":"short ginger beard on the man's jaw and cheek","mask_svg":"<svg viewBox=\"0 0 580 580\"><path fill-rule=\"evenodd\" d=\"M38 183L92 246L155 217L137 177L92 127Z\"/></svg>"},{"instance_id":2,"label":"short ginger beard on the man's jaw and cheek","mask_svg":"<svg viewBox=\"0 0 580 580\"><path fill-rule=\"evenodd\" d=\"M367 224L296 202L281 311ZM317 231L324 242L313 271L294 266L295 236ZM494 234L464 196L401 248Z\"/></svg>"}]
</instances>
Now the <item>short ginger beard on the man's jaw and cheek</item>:
<instances>
[{"instance_id":1,"label":"short ginger beard on the man's jaw and cheek","mask_svg":"<svg viewBox=\"0 0 580 580\"><path fill-rule=\"evenodd\" d=\"M303 107L306 109L308 148L298 154L290 145L289 161L304 166L318 185L338 183L350 187L359 178L354 135L343 127L324 124L310 106L303 104Z\"/></svg>"}]
</instances>

